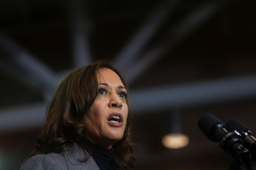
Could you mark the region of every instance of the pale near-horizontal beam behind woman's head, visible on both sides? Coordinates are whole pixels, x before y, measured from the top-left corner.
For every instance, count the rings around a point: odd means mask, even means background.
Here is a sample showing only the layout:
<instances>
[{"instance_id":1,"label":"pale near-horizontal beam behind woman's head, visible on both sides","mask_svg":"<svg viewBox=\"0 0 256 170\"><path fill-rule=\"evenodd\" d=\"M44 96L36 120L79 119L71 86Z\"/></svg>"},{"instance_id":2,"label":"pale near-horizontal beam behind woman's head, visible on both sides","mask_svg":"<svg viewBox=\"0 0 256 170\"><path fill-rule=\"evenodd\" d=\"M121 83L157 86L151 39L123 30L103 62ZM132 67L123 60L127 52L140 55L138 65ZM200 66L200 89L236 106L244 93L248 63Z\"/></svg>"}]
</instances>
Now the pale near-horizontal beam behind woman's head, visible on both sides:
<instances>
[{"instance_id":1,"label":"pale near-horizontal beam behind woman's head, visible on both sides","mask_svg":"<svg viewBox=\"0 0 256 170\"><path fill-rule=\"evenodd\" d=\"M256 75L136 89L130 92L134 115L255 96ZM0 132L42 126L46 107L46 103L36 103L1 109Z\"/></svg>"}]
</instances>

